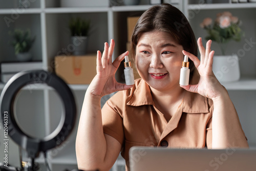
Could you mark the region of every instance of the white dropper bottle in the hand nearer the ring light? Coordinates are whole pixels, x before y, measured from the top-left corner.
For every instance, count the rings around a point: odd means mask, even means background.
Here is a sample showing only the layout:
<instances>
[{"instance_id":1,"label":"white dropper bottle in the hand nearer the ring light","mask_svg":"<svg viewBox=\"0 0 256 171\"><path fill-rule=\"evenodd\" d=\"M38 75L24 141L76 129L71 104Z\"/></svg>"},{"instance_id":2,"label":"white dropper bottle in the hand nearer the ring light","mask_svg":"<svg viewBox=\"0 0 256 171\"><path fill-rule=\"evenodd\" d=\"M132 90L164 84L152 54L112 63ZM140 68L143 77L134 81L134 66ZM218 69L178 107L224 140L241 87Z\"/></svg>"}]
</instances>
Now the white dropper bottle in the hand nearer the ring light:
<instances>
[{"instance_id":1,"label":"white dropper bottle in the hand nearer the ring light","mask_svg":"<svg viewBox=\"0 0 256 171\"><path fill-rule=\"evenodd\" d=\"M132 64L128 56L124 56L124 78L127 86L134 84Z\"/></svg>"}]
</instances>

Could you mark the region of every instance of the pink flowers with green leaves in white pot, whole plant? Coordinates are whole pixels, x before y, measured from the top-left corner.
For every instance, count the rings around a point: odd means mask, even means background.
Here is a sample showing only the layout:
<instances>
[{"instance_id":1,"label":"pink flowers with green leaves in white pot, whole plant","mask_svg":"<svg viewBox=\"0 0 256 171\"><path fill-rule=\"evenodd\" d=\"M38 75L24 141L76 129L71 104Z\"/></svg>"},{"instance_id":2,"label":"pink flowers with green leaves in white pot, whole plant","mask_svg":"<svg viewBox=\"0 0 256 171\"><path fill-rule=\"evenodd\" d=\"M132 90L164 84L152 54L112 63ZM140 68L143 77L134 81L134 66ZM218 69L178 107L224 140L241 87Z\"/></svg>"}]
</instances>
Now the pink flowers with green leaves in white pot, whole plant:
<instances>
[{"instance_id":1,"label":"pink flowers with green leaves in white pot, whole plant","mask_svg":"<svg viewBox=\"0 0 256 171\"><path fill-rule=\"evenodd\" d=\"M240 79L239 59L237 54L226 55L225 50L230 40L240 41L243 31L241 21L228 11L218 13L215 22L207 17L200 27L207 31L206 40L216 41L221 49L221 55L214 57L212 70L219 81L236 81Z\"/></svg>"}]
</instances>

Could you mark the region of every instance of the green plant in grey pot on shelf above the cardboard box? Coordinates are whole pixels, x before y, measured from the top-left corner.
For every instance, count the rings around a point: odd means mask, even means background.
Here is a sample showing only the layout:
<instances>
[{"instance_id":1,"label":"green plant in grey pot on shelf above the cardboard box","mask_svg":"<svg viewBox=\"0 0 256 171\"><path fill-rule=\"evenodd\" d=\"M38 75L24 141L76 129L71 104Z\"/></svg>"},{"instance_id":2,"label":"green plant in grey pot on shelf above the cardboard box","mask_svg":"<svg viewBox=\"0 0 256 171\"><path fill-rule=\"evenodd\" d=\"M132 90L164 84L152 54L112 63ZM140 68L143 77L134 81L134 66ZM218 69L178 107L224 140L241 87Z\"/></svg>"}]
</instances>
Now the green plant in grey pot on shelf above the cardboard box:
<instances>
[{"instance_id":1,"label":"green plant in grey pot on shelf above the cardboard box","mask_svg":"<svg viewBox=\"0 0 256 171\"><path fill-rule=\"evenodd\" d=\"M90 24L90 20L84 20L80 17L70 20L71 44L74 45L73 55L86 54Z\"/></svg>"}]
</instances>

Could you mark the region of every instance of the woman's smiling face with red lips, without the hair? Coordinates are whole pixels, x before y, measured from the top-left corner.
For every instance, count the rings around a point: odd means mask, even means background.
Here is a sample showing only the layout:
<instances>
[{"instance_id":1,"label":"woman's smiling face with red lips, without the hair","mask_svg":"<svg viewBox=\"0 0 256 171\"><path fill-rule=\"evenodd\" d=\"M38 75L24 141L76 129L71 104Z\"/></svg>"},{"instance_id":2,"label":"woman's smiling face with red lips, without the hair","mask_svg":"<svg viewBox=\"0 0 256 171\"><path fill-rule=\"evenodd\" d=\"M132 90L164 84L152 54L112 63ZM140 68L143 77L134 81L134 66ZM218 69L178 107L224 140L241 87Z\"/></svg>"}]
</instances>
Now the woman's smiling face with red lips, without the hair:
<instances>
[{"instance_id":1,"label":"woman's smiling face with red lips, without the hair","mask_svg":"<svg viewBox=\"0 0 256 171\"><path fill-rule=\"evenodd\" d=\"M143 33L136 46L136 67L150 87L169 90L179 86L183 47L166 32Z\"/></svg>"}]
</instances>

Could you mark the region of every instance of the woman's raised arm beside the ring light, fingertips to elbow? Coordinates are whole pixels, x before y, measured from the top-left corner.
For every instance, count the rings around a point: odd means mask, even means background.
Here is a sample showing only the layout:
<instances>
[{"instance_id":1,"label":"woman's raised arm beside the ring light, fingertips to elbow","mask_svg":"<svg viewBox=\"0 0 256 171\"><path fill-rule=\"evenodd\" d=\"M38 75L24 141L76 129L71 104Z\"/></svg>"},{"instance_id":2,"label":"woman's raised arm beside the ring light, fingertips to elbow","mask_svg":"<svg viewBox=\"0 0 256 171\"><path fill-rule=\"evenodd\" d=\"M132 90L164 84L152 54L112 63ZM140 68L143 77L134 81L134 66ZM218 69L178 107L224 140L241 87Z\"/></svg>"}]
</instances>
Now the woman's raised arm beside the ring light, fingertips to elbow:
<instances>
[{"instance_id":1,"label":"woman's raised arm beside the ring light, fingertips to elbow","mask_svg":"<svg viewBox=\"0 0 256 171\"><path fill-rule=\"evenodd\" d=\"M128 52L120 55L112 63L113 51L114 40L111 40L110 47L105 43L102 57L101 53L97 52L97 75L84 96L76 137L79 169L109 170L120 153L121 144L115 138L103 133L100 107L102 96L132 87L115 80L117 68Z\"/></svg>"}]
</instances>

